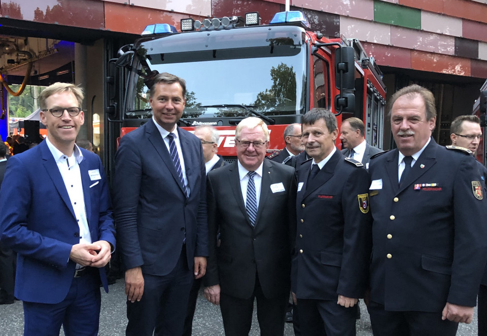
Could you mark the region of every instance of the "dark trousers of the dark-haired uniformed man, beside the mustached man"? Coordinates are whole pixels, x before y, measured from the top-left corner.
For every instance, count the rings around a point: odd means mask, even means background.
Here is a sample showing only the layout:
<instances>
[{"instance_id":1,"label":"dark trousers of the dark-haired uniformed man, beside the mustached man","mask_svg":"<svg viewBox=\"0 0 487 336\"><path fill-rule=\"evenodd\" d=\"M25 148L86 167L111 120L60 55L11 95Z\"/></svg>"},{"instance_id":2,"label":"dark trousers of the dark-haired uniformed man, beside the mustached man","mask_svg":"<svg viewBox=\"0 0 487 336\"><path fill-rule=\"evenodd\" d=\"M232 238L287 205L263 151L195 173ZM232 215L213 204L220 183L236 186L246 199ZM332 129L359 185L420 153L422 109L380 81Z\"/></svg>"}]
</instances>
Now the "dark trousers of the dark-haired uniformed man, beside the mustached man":
<instances>
[{"instance_id":1,"label":"dark trousers of the dark-haired uniformed man, beside the mustached man","mask_svg":"<svg viewBox=\"0 0 487 336\"><path fill-rule=\"evenodd\" d=\"M336 300L298 298L299 325L305 336L355 336L357 305L345 308Z\"/></svg>"}]
</instances>

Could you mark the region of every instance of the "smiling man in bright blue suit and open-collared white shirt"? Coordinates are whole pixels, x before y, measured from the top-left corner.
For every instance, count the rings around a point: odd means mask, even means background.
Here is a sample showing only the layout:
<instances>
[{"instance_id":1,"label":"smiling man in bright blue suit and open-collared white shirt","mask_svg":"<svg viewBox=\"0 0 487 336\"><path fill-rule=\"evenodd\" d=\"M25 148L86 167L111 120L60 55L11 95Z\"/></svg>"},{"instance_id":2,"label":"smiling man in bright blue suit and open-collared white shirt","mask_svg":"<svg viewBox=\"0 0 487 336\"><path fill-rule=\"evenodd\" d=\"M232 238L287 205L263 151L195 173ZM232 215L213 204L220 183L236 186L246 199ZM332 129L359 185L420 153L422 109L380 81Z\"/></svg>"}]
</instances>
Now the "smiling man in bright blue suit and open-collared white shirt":
<instances>
[{"instance_id":1,"label":"smiling man in bright blue suit and open-collared white shirt","mask_svg":"<svg viewBox=\"0 0 487 336\"><path fill-rule=\"evenodd\" d=\"M115 246L100 159L75 144L83 92L55 83L39 96L47 138L9 160L0 195L0 239L17 252L15 296L24 335L96 335L100 280Z\"/></svg>"}]
</instances>

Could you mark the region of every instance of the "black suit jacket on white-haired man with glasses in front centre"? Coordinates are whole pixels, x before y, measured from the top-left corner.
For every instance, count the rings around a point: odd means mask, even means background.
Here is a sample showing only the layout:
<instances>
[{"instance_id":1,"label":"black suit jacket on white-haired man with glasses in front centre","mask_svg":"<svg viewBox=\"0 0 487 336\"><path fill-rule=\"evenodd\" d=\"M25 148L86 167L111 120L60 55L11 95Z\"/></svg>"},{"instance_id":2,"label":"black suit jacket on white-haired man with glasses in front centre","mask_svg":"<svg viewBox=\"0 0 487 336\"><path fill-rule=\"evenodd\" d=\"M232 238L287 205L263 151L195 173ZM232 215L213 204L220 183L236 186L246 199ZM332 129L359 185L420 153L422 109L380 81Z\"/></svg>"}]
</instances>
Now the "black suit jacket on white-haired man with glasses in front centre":
<instances>
[{"instance_id":1,"label":"black suit jacket on white-haired man with glasses in front centre","mask_svg":"<svg viewBox=\"0 0 487 336\"><path fill-rule=\"evenodd\" d=\"M256 272L267 298L290 288L291 250L296 233L294 168L264 160L259 208L252 227L245 210L237 162L207 175L210 257L204 285L220 284L223 293L249 298ZM282 183L284 191L271 191ZM217 249L217 232L221 245ZM215 238L214 238L215 237Z\"/></svg>"}]
</instances>

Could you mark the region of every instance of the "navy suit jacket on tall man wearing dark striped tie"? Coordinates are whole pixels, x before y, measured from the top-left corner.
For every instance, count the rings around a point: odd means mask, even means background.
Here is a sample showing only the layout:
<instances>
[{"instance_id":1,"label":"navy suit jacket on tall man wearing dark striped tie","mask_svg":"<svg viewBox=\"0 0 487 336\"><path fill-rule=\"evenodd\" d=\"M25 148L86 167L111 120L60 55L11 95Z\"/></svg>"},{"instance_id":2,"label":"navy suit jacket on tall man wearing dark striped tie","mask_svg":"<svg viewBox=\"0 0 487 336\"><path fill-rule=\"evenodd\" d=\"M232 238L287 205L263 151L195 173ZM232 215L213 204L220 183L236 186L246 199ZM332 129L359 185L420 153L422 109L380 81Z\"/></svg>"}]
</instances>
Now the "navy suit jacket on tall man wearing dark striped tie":
<instances>
[{"instance_id":1,"label":"navy suit jacket on tall man wearing dark striped tie","mask_svg":"<svg viewBox=\"0 0 487 336\"><path fill-rule=\"evenodd\" d=\"M206 170L201 141L178 129L186 176L186 198L169 151L151 119L123 136L115 157L114 204L118 248L127 269L167 275L176 266L186 231L188 268L208 255Z\"/></svg>"}]
</instances>

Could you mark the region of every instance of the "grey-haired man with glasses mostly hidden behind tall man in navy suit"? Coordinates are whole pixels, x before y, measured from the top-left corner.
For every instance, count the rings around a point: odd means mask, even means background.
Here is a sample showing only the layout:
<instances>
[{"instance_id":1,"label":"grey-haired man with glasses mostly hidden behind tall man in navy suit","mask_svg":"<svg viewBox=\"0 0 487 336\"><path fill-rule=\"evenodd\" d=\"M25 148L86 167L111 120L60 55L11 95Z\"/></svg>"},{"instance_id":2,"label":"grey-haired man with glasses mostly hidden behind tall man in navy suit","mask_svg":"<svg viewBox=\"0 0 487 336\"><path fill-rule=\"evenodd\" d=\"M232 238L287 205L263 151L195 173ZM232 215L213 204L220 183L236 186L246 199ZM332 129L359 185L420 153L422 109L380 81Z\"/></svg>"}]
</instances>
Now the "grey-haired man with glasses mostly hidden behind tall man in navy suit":
<instances>
[{"instance_id":1,"label":"grey-haired man with glasses mostly hidden behind tall man in navy suit","mask_svg":"<svg viewBox=\"0 0 487 336\"><path fill-rule=\"evenodd\" d=\"M203 146L206 174L212 170L227 165L225 160L217 155L218 140L220 135L214 127L209 125L196 126L193 134L201 140L201 145ZM196 301L198 299L198 291L199 287L201 286L201 281L202 278L194 280L191 291L189 292L188 310L186 312L186 319L184 320L183 336L192 335L193 317L196 309Z\"/></svg>"}]
</instances>

